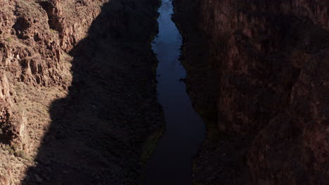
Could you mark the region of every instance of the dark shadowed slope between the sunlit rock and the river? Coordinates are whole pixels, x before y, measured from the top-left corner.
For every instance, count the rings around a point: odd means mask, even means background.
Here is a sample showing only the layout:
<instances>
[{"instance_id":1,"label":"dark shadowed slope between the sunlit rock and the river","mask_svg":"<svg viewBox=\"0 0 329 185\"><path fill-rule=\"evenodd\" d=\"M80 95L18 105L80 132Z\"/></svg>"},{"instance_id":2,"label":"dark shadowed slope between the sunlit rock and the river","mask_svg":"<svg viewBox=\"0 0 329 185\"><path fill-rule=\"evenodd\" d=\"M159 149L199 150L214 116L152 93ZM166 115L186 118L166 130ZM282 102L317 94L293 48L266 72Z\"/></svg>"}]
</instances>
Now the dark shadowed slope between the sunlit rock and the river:
<instances>
[{"instance_id":1,"label":"dark shadowed slope between the sunlit rock and the river","mask_svg":"<svg viewBox=\"0 0 329 185\"><path fill-rule=\"evenodd\" d=\"M140 184L141 145L162 124L155 91L156 0L111 0L71 51L67 97L22 184Z\"/></svg>"}]
</instances>

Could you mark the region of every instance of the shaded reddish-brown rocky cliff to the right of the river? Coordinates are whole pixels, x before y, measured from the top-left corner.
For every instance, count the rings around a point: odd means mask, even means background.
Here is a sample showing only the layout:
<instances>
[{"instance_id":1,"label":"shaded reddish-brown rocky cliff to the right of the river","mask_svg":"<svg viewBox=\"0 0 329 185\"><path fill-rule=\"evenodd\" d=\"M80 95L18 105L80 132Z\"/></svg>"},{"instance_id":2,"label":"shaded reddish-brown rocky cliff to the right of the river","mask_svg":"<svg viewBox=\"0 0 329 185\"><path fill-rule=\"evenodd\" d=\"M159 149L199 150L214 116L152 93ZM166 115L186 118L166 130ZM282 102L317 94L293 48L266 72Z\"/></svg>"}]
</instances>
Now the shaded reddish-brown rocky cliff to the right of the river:
<instances>
[{"instance_id":1,"label":"shaded reddish-brown rocky cliff to the right of the river","mask_svg":"<svg viewBox=\"0 0 329 185\"><path fill-rule=\"evenodd\" d=\"M325 184L329 1L175 4L186 83L209 122L194 180Z\"/></svg>"}]
</instances>

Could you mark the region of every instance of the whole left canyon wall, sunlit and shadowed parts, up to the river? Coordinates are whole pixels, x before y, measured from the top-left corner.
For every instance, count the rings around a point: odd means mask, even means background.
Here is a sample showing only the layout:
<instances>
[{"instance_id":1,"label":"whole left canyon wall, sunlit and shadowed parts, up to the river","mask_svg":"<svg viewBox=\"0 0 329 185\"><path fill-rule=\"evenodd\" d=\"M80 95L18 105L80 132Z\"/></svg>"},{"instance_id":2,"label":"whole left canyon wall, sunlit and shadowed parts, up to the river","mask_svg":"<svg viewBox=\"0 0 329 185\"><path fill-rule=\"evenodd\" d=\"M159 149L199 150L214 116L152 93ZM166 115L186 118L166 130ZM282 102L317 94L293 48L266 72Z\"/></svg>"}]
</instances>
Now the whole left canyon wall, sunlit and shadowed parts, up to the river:
<instances>
[{"instance_id":1,"label":"whole left canyon wall, sunlit and shadowed parts, up to the river","mask_svg":"<svg viewBox=\"0 0 329 185\"><path fill-rule=\"evenodd\" d=\"M0 184L138 181L162 125L157 4L0 0Z\"/></svg>"}]
</instances>

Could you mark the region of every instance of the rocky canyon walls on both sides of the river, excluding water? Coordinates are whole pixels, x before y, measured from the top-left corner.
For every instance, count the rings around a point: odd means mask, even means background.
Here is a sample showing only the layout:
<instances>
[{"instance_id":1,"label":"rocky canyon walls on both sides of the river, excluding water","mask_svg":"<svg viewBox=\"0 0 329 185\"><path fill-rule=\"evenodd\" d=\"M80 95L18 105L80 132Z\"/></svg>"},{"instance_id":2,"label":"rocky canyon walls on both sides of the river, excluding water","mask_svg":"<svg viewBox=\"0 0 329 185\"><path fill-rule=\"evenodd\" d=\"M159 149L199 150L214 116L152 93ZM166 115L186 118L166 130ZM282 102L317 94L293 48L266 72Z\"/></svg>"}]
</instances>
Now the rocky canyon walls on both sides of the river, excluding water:
<instances>
[{"instance_id":1,"label":"rocky canyon walls on both sides of the river, excluding water","mask_svg":"<svg viewBox=\"0 0 329 185\"><path fill-rule=\"evenodd\" d=\"M329 1L173 5L179 83L207 127L193 184L327 184ZM143 184L166 132L160 1L0 7L0 184Z\"/></svg>"}]
</instances>

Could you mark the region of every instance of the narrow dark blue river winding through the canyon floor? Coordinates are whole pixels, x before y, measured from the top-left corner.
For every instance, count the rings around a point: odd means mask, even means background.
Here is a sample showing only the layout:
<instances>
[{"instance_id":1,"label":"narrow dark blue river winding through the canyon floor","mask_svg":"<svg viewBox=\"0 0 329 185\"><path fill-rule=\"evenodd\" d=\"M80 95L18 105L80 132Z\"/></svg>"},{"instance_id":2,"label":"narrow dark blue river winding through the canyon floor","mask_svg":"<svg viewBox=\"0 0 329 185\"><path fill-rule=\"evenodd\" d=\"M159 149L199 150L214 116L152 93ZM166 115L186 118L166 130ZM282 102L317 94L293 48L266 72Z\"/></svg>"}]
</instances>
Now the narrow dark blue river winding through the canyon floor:
<instances>
[{"instance_id":1,"label":"narrow dark blue river winding through the canyon floor","mask_svg":"<svg viewBox=\"0 0 329 185\"><path fill-rule=\"evenodd\" d=\"M162 0L159 34L152 43L157 54L158 100L164 109L166 130L146 163L147 185L191 185L192 158L205 137L205 125L191 105L181 78L181 34L172 22L172 0Z\"/></svg>"}]
</instances>

